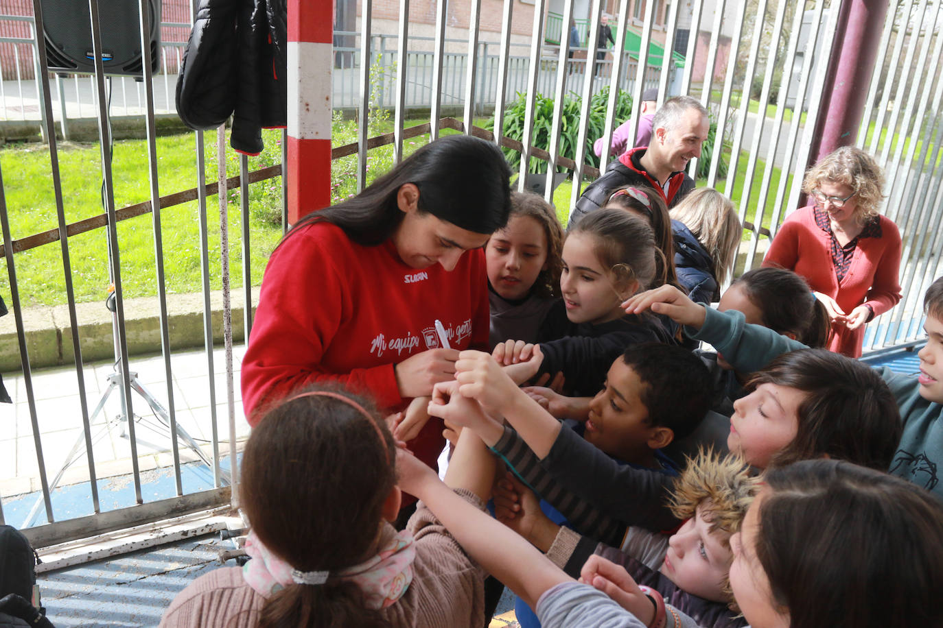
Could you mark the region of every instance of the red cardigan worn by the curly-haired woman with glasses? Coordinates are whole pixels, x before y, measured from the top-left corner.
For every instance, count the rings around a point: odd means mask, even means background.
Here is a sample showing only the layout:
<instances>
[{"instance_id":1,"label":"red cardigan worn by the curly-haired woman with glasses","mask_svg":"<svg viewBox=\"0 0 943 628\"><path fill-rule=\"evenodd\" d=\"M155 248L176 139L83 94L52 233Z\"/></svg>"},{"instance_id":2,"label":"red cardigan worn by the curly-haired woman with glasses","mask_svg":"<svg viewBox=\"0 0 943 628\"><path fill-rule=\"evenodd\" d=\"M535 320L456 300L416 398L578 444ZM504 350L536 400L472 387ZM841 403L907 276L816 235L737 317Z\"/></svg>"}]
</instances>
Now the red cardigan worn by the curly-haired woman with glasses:
<instances>
[{"instance_id":1,"label":"red cardigan worn by the curly-haired woman with glasses","mask_svg":"<svg viewBox=\"0 0 943 628\"><path fill-rule=\"evenodd\" d=\"M874 315L884 314L901 300L901 232L890 218L881 216L881 237L858 240L852 264L841 283L835 277L835 264L829 234L816 224L814 207L802 207L786 217L776 232L763 266L794 270L816 292L835 299L846 313L861 304L869 305ZM865 326L849 330L842 324L832 326L829 349L852 358L861 355Z\"/></svg>"}]
</instances>

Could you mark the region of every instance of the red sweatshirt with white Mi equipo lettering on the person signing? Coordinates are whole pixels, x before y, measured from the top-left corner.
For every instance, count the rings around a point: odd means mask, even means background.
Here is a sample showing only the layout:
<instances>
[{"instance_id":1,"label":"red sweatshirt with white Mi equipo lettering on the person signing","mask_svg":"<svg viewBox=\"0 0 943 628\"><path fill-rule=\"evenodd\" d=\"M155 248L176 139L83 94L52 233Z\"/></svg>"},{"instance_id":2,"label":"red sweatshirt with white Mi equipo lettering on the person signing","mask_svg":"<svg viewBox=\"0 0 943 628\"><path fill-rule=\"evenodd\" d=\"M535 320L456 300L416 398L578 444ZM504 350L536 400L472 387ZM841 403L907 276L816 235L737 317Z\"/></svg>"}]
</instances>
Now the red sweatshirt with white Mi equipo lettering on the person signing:
<instances>
[{"instance_id":1,"label":"red sweatshirt with white Mi equipo lettering on the person signing","mask_svg":"<svg viewBox=\"0 0 943 628\"><path fill-rule=\"evenodd\" d=\"M330 223L293 233L265 269L249 348L242 403L251 425L264 407L314 381L367 392L399 411L393 365L437 348L435 321L453 348L488 349L488 281L483 250L451 272L406 266L388 240L363 247ZM444 440L433 418L410 448L435 468Z\"/></svg>"}]
</instances>

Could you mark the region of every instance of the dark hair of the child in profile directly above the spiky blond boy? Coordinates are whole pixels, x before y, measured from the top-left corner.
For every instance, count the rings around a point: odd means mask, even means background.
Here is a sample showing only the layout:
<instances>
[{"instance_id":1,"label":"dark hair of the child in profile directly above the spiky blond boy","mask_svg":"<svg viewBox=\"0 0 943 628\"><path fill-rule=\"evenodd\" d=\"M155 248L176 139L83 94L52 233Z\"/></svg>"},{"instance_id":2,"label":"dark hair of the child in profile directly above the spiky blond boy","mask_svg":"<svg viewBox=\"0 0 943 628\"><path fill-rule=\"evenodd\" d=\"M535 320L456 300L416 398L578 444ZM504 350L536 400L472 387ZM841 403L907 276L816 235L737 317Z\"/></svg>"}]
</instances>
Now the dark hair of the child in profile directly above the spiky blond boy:
<instances>
[{"instance_id":1,"label":"dark hair of the child in profile directly above the spiky blond boy","mask_svg":"<svg viewBox=\"0 0 943 628\"><path fill-rule=\"evenodd\" d=\"M821 458L886 470L901 441L901 413L885 380L863 362L826 349L779 356L747 382L786 386L805 394L796 438L769 466Z\"/></svg>"}]
</instances>

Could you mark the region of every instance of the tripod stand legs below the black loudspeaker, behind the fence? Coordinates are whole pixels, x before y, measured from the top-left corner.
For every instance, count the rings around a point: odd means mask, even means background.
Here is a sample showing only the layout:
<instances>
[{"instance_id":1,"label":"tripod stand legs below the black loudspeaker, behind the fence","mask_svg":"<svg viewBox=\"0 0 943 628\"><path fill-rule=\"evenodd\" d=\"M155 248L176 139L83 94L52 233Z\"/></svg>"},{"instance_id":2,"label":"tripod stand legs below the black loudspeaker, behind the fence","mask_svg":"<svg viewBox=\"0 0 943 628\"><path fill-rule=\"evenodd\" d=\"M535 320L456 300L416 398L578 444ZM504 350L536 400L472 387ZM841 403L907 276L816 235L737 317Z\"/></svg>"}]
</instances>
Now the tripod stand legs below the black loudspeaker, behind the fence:
<instances>
[{"instance_id":1,"label":"tripod stand legs below the black loudspeaker, behind the fence","mask_svg":"<svg viewBox=\"0 0 943 628\"><path fill-rule=\"evenodd\" d=\"M98 415L102 411L105 410L105 404L108 403L108 398L111 396L111 393L113 393L115 390L118 391L118 394L120 395L120 398L121 398L121 412L119 414L116 414L114 417L108 419L108 421L105 424L103 424L101 427L98 428L96 433L92 434L91 436L92 445L101 441L101 439L104 436L111 433L111 430L113 428L118 427L118 426L122 427L122 432L121 432L122 438L129 438L127 434L127 430L125 428L128 420L134 420L141 423L144 418L144 417L141 417L141 415L139 414L135 414L133 417L128 416L127 399L124 397L124 386L122 385L121 345L119 344L119 339L118 339L118 314L115 309L114 293L111 293L108 296L108 299L106 300L105 305L108 308L108 310L111 311L111 323L112 323L111 333L112 333L112 339L114 341L114 346L115 346L114 370L106 378L106 380L108 381L108 388L106 388L105 392L102 393L102 396L98 400L98 404L95 406L94 411L91 412L91 416L89 417L89 425L90 426L93 425ZM147 405L151 408L151 410L154 412L154 415L157 417L157 421L160 424L160 426L157 427L157 429L163 432L166 436L173 437L173 433L171 430L170 413L163 407L163 405L159 401L157 401L157 397L153 393L151 393L151 391L149 391L141 383L141 380L138 378L138 374L136 372L129 370L127 374L127 378L128 378L128 385L130 389L134 391L135 393L137 393L138 395L141 395L141 398L147 402ZM209 468L213 467L212 461L207 458L207 455L203 453L203 450L200 448L200 445L196 442L195 439L193 439L192 436L190 436L190 432L188 432L184 427L180 425L176 426L176 438L177 438L177 441L184 443L190 449L190 451L193 452L193 454L197 457L197 459L200 459L204 464L207 465L207 467ZM137 440L137 441L140 442L140 440ZM69 467L71 467L75 463L76 460L81 458L80 450L82 449L82 445L84 443L85 443L85 434L79 434L78 438L75 440L75 443L72 446L72 449L66 455L65 461L63 462L62 467L58 470L58 473L56 474L56 476L53 477L52 482L49 483L50 494L52 493L52 491L56 489L56 487L58 487L58 483L62 479L62 475L65 475L66 470L68 470ZM223 484L229 484L230 482L229 473L221 470L220 475L221 475ZM39 514L40 508L42 507L42 503L43 503L42 496L40 496L36 500L36 503L33 505L33 507L30 508L29 513L26 515L25 521L23 522L22 525L20 525L21 528L26 528L33 524L33 522L36 520L36 516Z\"/></svg>"}]
</instances>

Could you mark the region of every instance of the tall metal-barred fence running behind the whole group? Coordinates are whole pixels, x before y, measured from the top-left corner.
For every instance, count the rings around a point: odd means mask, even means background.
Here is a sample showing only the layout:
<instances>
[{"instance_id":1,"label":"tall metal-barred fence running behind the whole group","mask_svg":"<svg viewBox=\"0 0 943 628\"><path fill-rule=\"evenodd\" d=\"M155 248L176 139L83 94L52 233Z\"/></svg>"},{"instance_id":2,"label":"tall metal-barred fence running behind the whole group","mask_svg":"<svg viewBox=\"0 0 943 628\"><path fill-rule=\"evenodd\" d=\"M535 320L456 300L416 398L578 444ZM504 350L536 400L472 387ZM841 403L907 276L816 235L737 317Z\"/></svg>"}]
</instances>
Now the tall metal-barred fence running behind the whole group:
<instances>
[{"instance_id":1,"label":"tall metal-barred fence running behind the whole group","mask_svg":"<svg viewBox=\"0 0 943 628\"><path fill-rule=\"evenodd\" d=\"M402 0L408 7L407 0ZM337 48L338 52L350 53L339 58L350 59L350 65L334 71L334 105L337 108L353 107L361 112L361 120L366 120L363 109L375 99L381 106L394 109L393 132L391 143L396 159L403 156L405 137L405 119L409 110L413 112L428 109L429 135L437 137L438 129L443 124L443 107L452 106L461 109L456 117L460 121L448 122L469 133L488 135L481 130L472 129L475 118L493 116L497 134L495 141L504 146L518 147L525 157L521 159L520 185L528 173L529 157L538 157L550 161L555 167L570 169L572 179L577 185L571 186L569 201L572 204L578 198L581 189L588 180L598 174L597 169L587 166L587 120L591 96L603 85L627 90L635 102L640 101L642 89L657 87L660 100L673 93L687 93L701 99L711 111L716 124L717 137L715 146L719 150L711 153L709 163L704 167L702 183L718 187L721 192L731 197L742 220L749 223L745 231L744 247L746 268L754 264L754 254L762 253L769 241L769 235L776 232L786 213L797 207L801 198L802 169L809 161L813 147L813 133L819 117L826 112L820 110L822 89L826 80L828 51L832 49L837 23L838 0L817 2L810 10L805 10L809 3L803 2L760 2L755 10L748 9L748 3L715 3L716 11L704 10L703 0L693 2L691 17L692 36L687 40L685 67L672 72L660 72L646 62L638 63L631 55L619 55L612 60L598 61L595 55L587 59L570 59L568 45L563 41L559 47L546 48L543 45L547 15L547 2L536 0L531 44L524 52L521 46L511 44L511 24L514 19L513 9L516 3L505 0L503 9L503 28L497 43L480 39L477 14L480 3L471 3L471 29L468 40L446 38L445 3L440 3L437 13L436 33L431 40L406 35L406 22L400 24L397 36L378 36L371 32L371 23L364 21L365 27L356 37L358 41L370 41L370 50L364 51L360 43L349 48ZM569 24L574 9L573 0L565 0L561 22ZM648 50L653 37L654 5L647 3L643 16L643 29L640 50ZM886 346L900 346L912 343L921 335L919 330L921 312L919 299L923 291L940 272L939 250L943 238L943 185L937 165L943 146L943 120L940 120L940 103L943 96L943 81L934 72L941 61L943 38L938 37L940 0L933 3L914 3L913 0L893 2L888 11L884 37L879 42L879 60L870 80L869 106L861 121L857 142L872 153L879 155L887 171L885 193L885 213L901 227L904 237L904 263L902 265L902 284L906 298L888 314L879 316L869 324L866 337L866 351L879 350ZM34 3L39 8L40 3ZM366 3L365 6L369 6ZM679 11L683 3L671 3L668 10L666 41L664 48L674 48L674 34L679 22ZM96 0L90 0L92 14L97 10ZM598 39L601 1L592 0L587 20L587 38ZM619 15L616 19L616 32L628 32L628 0L620 1ZM37 29L41 29L41 17L37 18ZM100 27L93 21L94 46L100 48ZM147 32L142 28L142 32ZM709 34L709 43L703 50L698 49L697 33ZM729 40L721 33L731 33ZM354 35L351 33L341 35ZM623 36L624 37L624 36ZM409 42L428 43L433 51L409 52ZM460 42L467 47L466 53L446 52L447 43ZM804 42L804 43L802 43ZM6 190L0 186L0 227L3 233L3 252L5 269L10 290L11 311L16 320L17 342L23 363L25 395L28 401L28 421L33 435L33 449L39 460L41 491L39 498L42 507L37 512L44 512L44 522L30 531L38 544L61 542L80 535L104 532L120 526L166 518L168 513L179 514L186 510L200 507L218 506L232 497L227 477L220 465L224 457L224 448L228 448L230 460L236 458L235 436L232 428L236 405L232 390L235 383L228 378L228 398L224 408L228 414L228 434L217 432L217 391L214 384L219 367L214 363L213 325L211 323L211 304L209 280L210 269L223 272L228 259L223 251L219 261L211 259L209 239L209 209L207 202L222 188L240 188L240 218L243 232L234 235L242 247L243 285L239 286L239 299L245 303L246 330L251 329L252 294L249 290L259 277L252 277L248 266L251 247L248 241L247 226L253 220L249 206L249 187L255 182L266 180L281 174L280 169L267 169L249 172L248 161L240 159L238 178L226 179L222 176L215 182L207 181L207 155L204 150L204 134L193 134L196 157L194 179L196 185L191 190L175 191L161 195L157 162L155 114L163 106L173 110L170 100L173 76L161 72L155 76L149 70L150 63L143 63L144 76L141 83L122 84L114 93L123 93L125 112L128 115L141 114L147 128L148 168L141 172L141 179L149 182L149 201L133 207L119 208L114 200L114 183L110 167L110 137L108 135L108 92L107 80L101 72L88 78L91 94L88 105L79 105L80 114L92 112L99 121L100 146L103 152L102 179L104 180L104 212L91 220L70 224L66 210L69 199L63 197L59 179L58 143L55 134L49 132L48 124L54 118L54 109L58 98L68 100L66 85L75 86L77 95L80 89L76 78L64 79L62 85L56 85L58 79L48 77L44 50L41 42L29 41L38 54L36 64L40 77L35 86L35 98L44 124L44 136L48 139L48 156L52 178L49 185L55 189L56 214L58 227L49 233L12 233L9 214L22 208L9 207ZM802 62L794 62L797 51L802 46ZM620 37L616 48L624 48ZM145 51L148 46L144 46ZM517 54L515 54L517 53ZM146 53L145 53L146 54ZM179 60L179 44L168 43L162 52L170 56L165 58L162 68L173 67ZM366 66L361 60L373 59ZM346 63L346 61L344 62ZM341 64L343 65L343 64ZM370 66L378 70L371 77ZM18 66L19 67L19 66ZM696 67L705 68L703 81L693 80ZM593 80L587 80L593 77ZM25 90L28 81L16 83L17 98L21 102L21 115L25 111ZM55 85L55 89L54 89ZM674 85L675 87L671 87ZM791 86L791 87L790 87ZM6 89L6 87L5 87ZM161 92L162 89L162 92ZM575 92L582 98L580 115L581 128L576 143L577 150L572 157L560 153L562 126L562 103L564 96ZM536 94L544 93L554 99L552 131L546 146L536 146L534 142L534 117ZM794 106L786 106L786 94L794 98ZM132 95L140 94L135 100ZM502 137L505 109L508 102L522 94L526 112L523 120L523 134L519 141L509 141ZM8 91L0 94L4 98L5 110L9 110ZM606 106L604 127L608 129L604 144L608 144L611 130L621 121L614 120L614 111L618 89L610 89ZM777 98L778 97L778 98ZM131 103L129 103L131 101ZM774 102L775 101L775 102ZM790 102L790 104L792 104ZM59 105L62 107L62 105ZM424 113L424 111L423 111ZM70 113L70 116L72 114ZM637 123L637 120L636 120ZM366 160L368 156L368 125L361 123L356 147L339 147L336 154L357 153L358 172L361 185L365 180ZM386 140L384 140L386 141ZM383 142L373 142L373 145ZM284 146L284 142L283 142ZM224 150L224 149L223 149ZM224 157L224 154L223 154ZM602 163L609 161L610 155L604 153ZM284 160L283 160L284 163ZM698 164L692 162L691 171L696 171ZM553 170L553 169L550 169ZM724 175L724 171L726 174ZM548 172L546 186L547 198L550 199L554 185ZM97 185L97 179L93 185ZM284 177L283 177L284 185ZM181 459L179 444L190 446L186 434L179 429L174 404L172 349L169 343L169 317L167 307L167 278L164 260L169 254L162 245L162 234L167 227L162 224L161 210L174 203L195 199L198 203L196 219L199 221L200 236L196 243L200 250L200 266L203 276L201 298L204 308L204 357L206 372L210 375L206 395L214 409L212 425L214 431L208 447L203 450L203 463L212 470L213 488L205 491L185 491L181 481ZM219 199L219 197L218 197ZM224 197L223 197L224 199ZM225 224L224 214L227 205L220 208L221 224ZM141 469L137 452L135 422L128 421L130 462L132 464L131 482L135 488L136 506L112 511L103 511L97 493L96 468L92 452L91 416L94 409L85 393L85 371L82 359L82 345L78 333L72 334L72 353L74 354L74 377L78 382L80 399L75 409L76 425L81 426L83 443L80 449L85 452L88 461L87 489L91 494L93 512L89 516L77 519L66 518L57 521L53 516L52 490L55 481L50 480L47 469L53 469L60 460L47 460L43 457L44 436L41 433L41 416L35 395L32 391L30 351L25 336L24 308L19 294L21 286L17 283L16 269L25 260L28 250L39 246L53 246L58 242L64 269L66 286L67 316L73 330L77 330L76 303L70 262L70 242L80 233L99 230L107 236L108 248L113 252L110 274L115 286L114 343L118 350L115 386L123 398L123 411L127 416L134 416L135 405L141 405L141 397L135 396L134 381L128 376L133 371L127 353L127 334L124 314L124 292L122 289L122 266L117 224L124 217L150 213L151 232L155 243L155 281L157 284L158 318L161 337L161 356L166 385L159 391L163 399L159 409L152 406L155 414L166 411L168 440L171 443L173 461L170 465L174 477L174 496L169 499L149 501L141 493ZM222 238L225 241L225 237ZM222 245L223 250L228 244ZM215 253L214 253L215 255ZM217 266L217 264L219 266ZM232 292L237 292L234 288ZM228 306L226 310L229 310ZM231 346L231 335L225 334ZM231 355L224 360L223 370L231 373ZM132 394L134 393L134 395ZM235 464L233 464L235 467ZM55 478L53 478L55 479ZM3 520L3 499L0 499L0 521ZM12 522L19 523L19 522Z\"/></svg>"}]
</instances>

